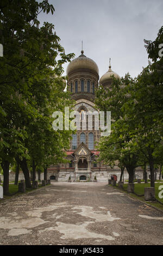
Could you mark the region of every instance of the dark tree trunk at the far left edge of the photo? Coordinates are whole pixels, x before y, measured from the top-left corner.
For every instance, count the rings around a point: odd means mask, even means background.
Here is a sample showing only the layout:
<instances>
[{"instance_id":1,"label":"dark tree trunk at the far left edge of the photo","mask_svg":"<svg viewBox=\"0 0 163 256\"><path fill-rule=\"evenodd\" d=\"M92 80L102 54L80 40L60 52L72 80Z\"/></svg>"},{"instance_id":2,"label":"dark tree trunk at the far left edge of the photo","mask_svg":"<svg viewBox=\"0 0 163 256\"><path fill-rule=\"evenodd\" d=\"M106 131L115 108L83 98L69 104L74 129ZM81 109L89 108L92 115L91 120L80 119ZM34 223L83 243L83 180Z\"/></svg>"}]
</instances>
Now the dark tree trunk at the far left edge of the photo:
<instances>
[{"instance_id":1,"label":"dark tree trunk at the far left edge of the photo","mask_svg":"<svg viewBox=\"0 0 163 256\"><path fill-rule=\"evenodd\" d=\"M3 194L5 196L8 196L9 193L9 166L10 163L5 160L1 163L2 169L3 169Z\"/></svg>"}]
</instances>

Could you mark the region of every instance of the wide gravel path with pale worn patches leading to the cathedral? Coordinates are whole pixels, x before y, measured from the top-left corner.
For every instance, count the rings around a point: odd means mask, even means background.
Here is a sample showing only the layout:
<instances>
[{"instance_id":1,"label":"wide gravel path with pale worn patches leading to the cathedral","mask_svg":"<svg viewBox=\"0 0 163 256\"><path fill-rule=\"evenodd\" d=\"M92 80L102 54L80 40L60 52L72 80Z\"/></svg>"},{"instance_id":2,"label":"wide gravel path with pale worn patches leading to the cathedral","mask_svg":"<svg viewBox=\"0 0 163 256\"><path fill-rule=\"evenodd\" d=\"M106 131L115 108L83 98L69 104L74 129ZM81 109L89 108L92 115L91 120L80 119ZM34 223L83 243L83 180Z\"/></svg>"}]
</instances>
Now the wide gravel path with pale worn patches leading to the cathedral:
<instances>
[{"instance_id":1,"label":"wide gravel path with pale worn patches leading to the cathedral","mask_svg":"<svg viewBox=\"0 0 163 256\"><path fill-rule=\"evenodd\" d=\"M0 202L0 245L163 245L163 214L105 183L53 182Z\"/></svg>"}]
</instances>

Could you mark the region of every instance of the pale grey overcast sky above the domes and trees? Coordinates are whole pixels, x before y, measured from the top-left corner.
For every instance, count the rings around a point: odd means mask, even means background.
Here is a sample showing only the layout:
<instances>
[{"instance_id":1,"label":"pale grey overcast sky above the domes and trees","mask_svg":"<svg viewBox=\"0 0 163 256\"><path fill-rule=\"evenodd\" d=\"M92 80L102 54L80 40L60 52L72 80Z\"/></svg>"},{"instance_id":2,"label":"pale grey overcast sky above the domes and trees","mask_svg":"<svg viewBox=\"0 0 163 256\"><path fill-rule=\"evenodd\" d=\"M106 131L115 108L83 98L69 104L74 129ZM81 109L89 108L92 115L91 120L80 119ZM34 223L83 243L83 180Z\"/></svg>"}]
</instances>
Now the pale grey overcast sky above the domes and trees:
<instances>
[{"instance_id":1,"label":"pale grey overcast sky above the domes and trees","mask_svg":"<svg viewBox=\"0 0 163 256\"><path fill-rule=\"evenodd\" d=\"M40 2L40 1L39 1ZM39 14L55 25L66 53L84 54L99 68L99 77L111 69L132 77L148 65L143 39L154 40L163 25L162 0L51 0L55 12ZM64 65L66 75L66 68Z\"/></svg>"}]
</instances>

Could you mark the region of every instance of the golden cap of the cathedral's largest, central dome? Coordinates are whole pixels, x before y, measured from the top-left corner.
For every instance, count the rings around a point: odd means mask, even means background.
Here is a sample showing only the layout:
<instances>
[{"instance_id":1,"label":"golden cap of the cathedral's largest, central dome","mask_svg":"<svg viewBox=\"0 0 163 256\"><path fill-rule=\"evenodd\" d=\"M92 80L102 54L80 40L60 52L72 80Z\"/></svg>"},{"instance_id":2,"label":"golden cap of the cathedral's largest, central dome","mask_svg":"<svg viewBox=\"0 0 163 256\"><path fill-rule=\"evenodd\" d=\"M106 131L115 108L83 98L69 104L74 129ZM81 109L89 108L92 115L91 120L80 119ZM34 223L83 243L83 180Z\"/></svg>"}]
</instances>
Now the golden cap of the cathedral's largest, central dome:
<instances>
[{"instance_id":1,"label":"golden cap of the cathedral's largest, central dome","mask_svg":"<svg viewBox=\"0 0 163 256\"><path fill-rule=\"evenodd\" d=\"M72 71L78 70L78 69L89 69L99 73L98 66L96 62L94 62L92 59L87 58L83 53L84 51L81 51L81 55L78 58L75 58L72 60L70 64L67 66L67 75L70 74Z\"/></svg>"}]
</instances>

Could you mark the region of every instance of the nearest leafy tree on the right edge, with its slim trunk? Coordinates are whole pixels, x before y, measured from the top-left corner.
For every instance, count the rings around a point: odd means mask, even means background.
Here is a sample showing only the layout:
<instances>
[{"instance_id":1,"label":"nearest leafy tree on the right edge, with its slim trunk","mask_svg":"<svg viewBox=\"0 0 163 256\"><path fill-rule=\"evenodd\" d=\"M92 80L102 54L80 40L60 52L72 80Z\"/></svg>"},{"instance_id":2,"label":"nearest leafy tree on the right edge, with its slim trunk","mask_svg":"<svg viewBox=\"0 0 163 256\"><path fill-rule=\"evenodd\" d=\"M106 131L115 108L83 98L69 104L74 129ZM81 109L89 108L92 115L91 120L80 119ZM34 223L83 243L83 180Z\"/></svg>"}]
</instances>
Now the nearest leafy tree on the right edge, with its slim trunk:
<instances>
[{"instance_id":1,"label":"nearest leafy tree on the right edge, with its slim trunk","mask_svg":"<svg viewBox=\"0 0 163 256\"><path fill-rule=\"evenodd\" d=\"M160 84L157 77L149 63L137 77L135 87L130 92L131 98L123 106L130 123L135 122L133 145L149 163L152 187L155 181L154 164L160 163L163 154L161 101L158 100Z\"/></svg>"}]
</instances>

